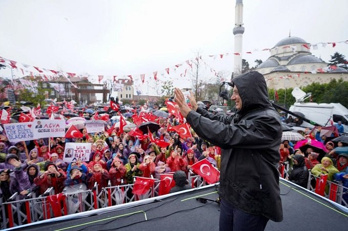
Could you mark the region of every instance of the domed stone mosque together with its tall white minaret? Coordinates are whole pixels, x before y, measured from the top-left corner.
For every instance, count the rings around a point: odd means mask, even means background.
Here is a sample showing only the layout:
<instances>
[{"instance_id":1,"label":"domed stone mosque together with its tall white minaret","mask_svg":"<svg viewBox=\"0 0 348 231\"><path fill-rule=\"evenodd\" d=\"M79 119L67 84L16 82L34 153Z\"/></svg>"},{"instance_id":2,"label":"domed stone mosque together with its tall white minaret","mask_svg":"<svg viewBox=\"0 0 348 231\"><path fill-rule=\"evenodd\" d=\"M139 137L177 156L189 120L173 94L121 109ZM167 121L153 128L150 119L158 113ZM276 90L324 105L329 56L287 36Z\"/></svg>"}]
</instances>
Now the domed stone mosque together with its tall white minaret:
<instances>
[{"instance_id":1,"label":"domed stone mosque together with its tall white minaret","mask_svg":"<svg viewBox=\"0 0 348 231\"><path fill-rule=\"evenodd\" d=\"M243 0L236 0L234 53L242 54L244 31ZM328 63L312 55L311 48L315 49L315 45L311 46L305 39L289 34L270 49L271 56L258 65L256 71L265 76L270 89L302 87L314 82L329 83L332 79L340 78L348 81L347 70L342 67L329 69ZM242 57L239 55L234 56L234 73L242 73Z\"/></svg>"}]
</instances>

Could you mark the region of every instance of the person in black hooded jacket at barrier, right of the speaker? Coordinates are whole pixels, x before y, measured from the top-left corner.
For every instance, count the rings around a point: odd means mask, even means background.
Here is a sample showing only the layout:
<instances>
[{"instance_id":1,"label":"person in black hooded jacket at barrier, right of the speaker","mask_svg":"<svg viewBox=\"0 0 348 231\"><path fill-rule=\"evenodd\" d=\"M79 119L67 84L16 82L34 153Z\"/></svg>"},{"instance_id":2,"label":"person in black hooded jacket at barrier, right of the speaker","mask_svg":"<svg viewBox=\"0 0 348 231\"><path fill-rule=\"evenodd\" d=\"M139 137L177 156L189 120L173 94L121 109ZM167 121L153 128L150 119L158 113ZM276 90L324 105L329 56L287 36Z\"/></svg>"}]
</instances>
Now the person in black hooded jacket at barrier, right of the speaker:
<instances>
[{"instance_id":1,"label":"person in black hooded jacket at barrier, right of the speaker","mask_svg":"<svg viewBox=\"0 0 348 231\"><path fill-rule=\"evenodd\" d=\"M294 155L294 165L290 171L289 180L297 185L307 189L309 172L305 166L305 157L302 155Z\"/></svg>"}]
</instances>

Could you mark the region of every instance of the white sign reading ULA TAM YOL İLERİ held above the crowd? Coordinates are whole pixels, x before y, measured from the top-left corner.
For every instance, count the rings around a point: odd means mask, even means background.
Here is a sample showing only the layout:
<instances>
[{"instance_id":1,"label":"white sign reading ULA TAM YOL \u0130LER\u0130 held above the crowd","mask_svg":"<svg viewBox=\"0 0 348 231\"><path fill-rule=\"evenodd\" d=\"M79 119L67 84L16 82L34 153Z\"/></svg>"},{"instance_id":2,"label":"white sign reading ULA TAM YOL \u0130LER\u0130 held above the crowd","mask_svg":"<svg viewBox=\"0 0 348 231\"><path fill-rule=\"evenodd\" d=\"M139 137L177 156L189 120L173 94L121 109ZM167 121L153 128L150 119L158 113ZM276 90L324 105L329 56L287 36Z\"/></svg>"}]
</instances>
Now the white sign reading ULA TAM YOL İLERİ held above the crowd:
<instances>
[{"instance_id":1,"label":"white sign reading ULA TAM YOL \u0130LER\u0130 held above the crowd","mask_svg":"<svg viewBox=\"0 0 348 231\"><path fill-rule=\"evenodd\" d=\"M89 161L91 154L91 143L66 143L63 161L70 163L77 159Z\"/></svg>"}]
</instances>

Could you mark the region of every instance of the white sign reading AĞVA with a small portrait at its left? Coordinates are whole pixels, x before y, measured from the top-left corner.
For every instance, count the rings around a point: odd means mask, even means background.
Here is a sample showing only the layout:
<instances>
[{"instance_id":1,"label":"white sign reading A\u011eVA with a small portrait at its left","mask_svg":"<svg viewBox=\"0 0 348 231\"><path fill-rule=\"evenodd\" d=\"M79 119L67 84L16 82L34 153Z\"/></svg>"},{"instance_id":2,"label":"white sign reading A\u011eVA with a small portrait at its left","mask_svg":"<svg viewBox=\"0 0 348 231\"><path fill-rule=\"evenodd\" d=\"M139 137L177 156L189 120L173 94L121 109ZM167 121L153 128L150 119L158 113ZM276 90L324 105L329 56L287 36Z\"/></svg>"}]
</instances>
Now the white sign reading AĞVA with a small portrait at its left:
<instances>
[{"instance_id":1,"label":"white sign reading A\u011eVA with a small portrait at its left","mask_svg":"<svg viewBox=\"0 0 348 231\"><path fill-rule=\"evenodd\" d=\"M63 137L65 126L64 120L35 120L33 122L35 140L46 137Z\"/></svg>"}]
</instances>

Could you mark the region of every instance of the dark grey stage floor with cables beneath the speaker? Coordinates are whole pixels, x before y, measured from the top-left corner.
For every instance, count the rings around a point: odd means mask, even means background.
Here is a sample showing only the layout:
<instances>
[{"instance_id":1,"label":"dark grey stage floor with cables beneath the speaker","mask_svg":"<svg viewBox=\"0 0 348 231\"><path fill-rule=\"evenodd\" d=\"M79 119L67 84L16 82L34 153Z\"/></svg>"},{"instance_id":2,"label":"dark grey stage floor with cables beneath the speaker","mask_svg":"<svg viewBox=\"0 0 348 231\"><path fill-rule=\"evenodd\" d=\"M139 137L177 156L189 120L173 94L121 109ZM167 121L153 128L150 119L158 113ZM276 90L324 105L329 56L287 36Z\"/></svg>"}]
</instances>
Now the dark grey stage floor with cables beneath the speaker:
<instances>
[{"instance_id":1,"label":"dark grey stage floor with cables beneath the speaker","mask_svg":"<svg viewBox=\"0 0 348 231\"><path fill-rule=\"evenodd\" d=\"M266 230L347 230L348 214L321 197L284 180L280 181L280 194L284 221L269 221ZM201 203L196 199L198 197L215 200L218 195L215 187L197 189L119 211L18 228L45 231L219 230L219 204ZM102 210L98 211L101 213Z\"/></svg>"}]
</instances>

